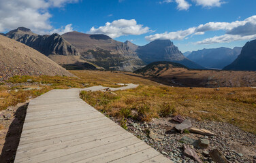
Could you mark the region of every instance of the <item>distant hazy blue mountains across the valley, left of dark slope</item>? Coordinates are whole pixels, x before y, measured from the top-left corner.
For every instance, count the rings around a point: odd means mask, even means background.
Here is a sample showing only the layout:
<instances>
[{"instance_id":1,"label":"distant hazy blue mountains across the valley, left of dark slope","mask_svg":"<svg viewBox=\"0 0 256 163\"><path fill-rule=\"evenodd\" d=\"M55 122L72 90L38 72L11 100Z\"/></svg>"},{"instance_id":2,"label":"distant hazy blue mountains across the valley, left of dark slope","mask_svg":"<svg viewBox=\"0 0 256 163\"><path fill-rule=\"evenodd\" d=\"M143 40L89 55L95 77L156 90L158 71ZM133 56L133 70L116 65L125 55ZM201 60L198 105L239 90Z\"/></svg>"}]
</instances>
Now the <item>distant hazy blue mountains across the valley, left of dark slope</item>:
<instances>
[{"instance_id":1,"label":"distant hazy blue mountains across the valley, left of dark slope","mask_svg":"<svg viewBox=\"0 0 256 163\"><path fill-rule=\"evenodd\" d=\"M238 57L241 50L240 47L203 49L191 52L187 58L209 69L223 69Z\"/></svg>"}]
</instances>

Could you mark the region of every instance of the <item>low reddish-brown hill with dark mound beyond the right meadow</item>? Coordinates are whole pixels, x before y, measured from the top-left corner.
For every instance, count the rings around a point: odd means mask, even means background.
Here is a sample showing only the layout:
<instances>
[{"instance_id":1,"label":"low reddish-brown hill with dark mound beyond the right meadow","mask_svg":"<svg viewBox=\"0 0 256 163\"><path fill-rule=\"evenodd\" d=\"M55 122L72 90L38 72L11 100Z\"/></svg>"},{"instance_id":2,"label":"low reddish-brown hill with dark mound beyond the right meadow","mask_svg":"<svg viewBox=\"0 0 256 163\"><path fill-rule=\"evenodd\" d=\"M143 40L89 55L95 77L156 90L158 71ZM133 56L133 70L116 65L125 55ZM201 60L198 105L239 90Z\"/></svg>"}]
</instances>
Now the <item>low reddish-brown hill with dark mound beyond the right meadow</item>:
<instances>
[{"instance_id":1,"label":"low reddish-brown hill with dark mound beyond the right meadow","mask_svg":"<svg viewBox=\"0 0 256 163\"><path fill-rule=\"evenodd\" d=\"M207 88L256 86L256 73L253 71L192 70L173 62L153 62L135 73L169 86Z\"/></svg>"}]
</instances>

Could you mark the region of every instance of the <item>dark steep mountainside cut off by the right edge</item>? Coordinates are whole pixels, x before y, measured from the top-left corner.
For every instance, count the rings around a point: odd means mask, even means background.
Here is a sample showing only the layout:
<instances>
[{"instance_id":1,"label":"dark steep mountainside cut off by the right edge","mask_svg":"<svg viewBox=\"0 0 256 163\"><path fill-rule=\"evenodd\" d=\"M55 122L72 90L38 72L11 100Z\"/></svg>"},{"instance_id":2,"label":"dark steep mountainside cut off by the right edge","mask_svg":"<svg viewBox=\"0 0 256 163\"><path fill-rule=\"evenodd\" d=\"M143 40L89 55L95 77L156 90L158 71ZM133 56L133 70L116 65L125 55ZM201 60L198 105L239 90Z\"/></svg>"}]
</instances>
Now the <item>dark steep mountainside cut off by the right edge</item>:
<instances>
[{"instance_id":1,"label":"dark steep mountainside cut off by the right edge","mask_svg":"<svg viewBox=\"0 0 256 163\"><path fill-rule=\"evenodd\" d=\"M224 70L256 71L256 39L247 42L238 58Z\"/></svg>"}]
</instances>

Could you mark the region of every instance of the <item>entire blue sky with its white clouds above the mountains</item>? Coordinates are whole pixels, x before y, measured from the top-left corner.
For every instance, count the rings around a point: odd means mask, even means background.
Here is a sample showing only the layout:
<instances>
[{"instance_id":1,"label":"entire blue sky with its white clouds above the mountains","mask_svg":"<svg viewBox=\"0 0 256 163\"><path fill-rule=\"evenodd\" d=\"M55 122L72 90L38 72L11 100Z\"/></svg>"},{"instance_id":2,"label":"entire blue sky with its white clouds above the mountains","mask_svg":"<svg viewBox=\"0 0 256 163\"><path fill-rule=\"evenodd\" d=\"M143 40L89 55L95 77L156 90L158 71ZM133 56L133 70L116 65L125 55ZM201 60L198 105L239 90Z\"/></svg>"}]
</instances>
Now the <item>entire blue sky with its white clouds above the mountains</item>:
<instances>
[{"instance_id":1,"label":"entire blue sky with its white clouds above the mountains","mask_svg":"<svg viewBox=\"0 0 256 163\"><path fill-rule=\"evenodd\" d=\"M182 52L234 48L256 39L255 9L255 0L0 0L0 32L26 26L41 34L104 33L139 46L171 39Z\"/></svg>"}]
</instances>

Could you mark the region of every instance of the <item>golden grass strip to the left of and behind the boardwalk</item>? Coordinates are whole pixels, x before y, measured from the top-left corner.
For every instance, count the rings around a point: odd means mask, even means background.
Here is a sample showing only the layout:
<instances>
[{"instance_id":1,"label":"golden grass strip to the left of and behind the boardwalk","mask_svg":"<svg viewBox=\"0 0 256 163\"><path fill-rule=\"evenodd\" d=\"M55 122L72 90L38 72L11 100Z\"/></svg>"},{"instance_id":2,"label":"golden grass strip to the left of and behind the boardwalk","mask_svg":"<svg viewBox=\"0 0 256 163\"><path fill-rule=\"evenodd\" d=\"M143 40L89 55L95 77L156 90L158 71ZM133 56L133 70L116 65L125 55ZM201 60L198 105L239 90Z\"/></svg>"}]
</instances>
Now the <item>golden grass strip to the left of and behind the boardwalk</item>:
<instances>
[{"instance_id":1,"label":"golden grass strip to the left of and behind the boardwalk","mask_svg":"<svg viewBox=\"0 0 256 163\"><path fill-rule=\"evenodd\" d=\"M116 83L138 83L138 84L156 84L146 79L140 79L123 73L112 73L110 71L70 71L78 77L61 77L61 76L14 76L6 82L12 84L21 84L7 88L3 83L0 84L0 111L9 106L23 103L29 99L29 96L35 98L52 89L84 88L88 86L108 86L120 87ZM23 90L22 83L31 79L31 86L39 86L42 90ZM89 84L85 86L84 84Z\"/></svg>"}]
</instances>

